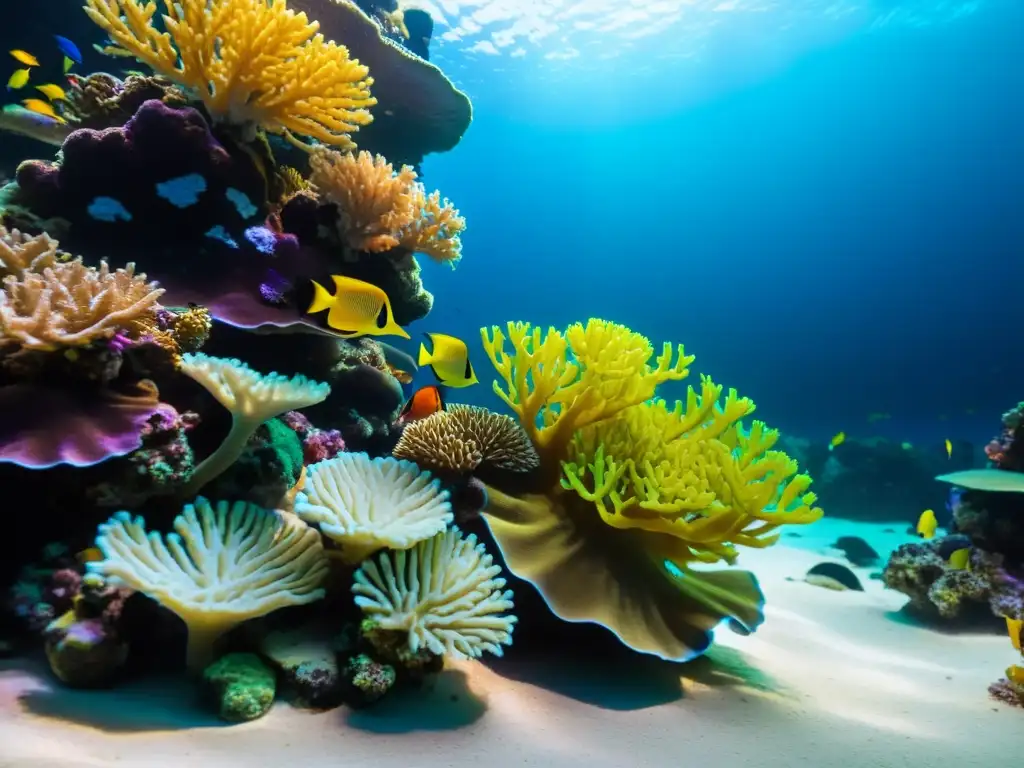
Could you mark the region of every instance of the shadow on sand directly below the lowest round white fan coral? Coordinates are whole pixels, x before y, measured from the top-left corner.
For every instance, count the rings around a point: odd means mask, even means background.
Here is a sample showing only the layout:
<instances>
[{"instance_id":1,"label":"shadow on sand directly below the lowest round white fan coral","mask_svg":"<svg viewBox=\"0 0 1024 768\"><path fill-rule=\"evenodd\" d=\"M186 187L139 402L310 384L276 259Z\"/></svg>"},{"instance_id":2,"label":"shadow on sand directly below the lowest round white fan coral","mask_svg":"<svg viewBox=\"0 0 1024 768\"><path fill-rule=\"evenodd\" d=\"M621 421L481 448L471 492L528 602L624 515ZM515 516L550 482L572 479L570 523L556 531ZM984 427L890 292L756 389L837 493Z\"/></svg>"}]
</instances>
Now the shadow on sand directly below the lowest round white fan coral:
<instances>
[{"instance_id":1,"label":"shadow on sand directly below the lowest round white fan coral","mask_svg":"<svg viewBox=\"0 0 1024 768\"><path fill-rule=\"evenodd\" d=\"M469 689L466 674L451 669L422 687L395 690L369 709L341 710L346 724L372 733L455 730L486 711L486 702Z\"/></svg>"}]
</instances>

